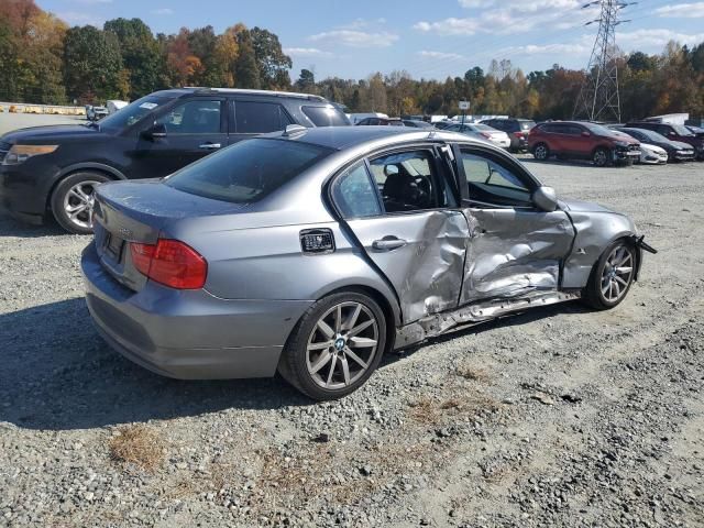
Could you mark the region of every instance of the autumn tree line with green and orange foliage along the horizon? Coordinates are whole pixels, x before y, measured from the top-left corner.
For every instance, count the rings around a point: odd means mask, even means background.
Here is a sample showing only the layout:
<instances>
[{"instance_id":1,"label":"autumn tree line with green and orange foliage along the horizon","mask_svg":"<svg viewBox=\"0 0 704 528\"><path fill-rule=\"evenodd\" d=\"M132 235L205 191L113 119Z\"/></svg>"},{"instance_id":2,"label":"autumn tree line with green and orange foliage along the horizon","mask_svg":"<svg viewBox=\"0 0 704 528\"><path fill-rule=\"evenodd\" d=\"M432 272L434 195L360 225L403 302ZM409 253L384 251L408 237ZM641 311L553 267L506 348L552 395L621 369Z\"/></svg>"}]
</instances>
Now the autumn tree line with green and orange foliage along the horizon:
<instances>
[{"instance_id":1,"label":"autumn tree line with green and orange foliage along the horizon","mask_svg":"<svg viewBox=\"0 0 704 528\"><path fill-rule=\"evenodd\" d=\"M704 43L670 43L661 54L635 52L618 63L624 120L682 111L704 117ZM319 94L352 112L452 116L469 100L477 114L569 119L586 76L557 64L526 75L507 59L444 80L414 79L404 70L316 80L309 68L292 81L290 68L278 36L261 28L154 35L142 20L122 18L102 29L69 28L34 0L0 2L0 100L13 102L82 105L212 86Z\"/></svg>"}]
</instances>

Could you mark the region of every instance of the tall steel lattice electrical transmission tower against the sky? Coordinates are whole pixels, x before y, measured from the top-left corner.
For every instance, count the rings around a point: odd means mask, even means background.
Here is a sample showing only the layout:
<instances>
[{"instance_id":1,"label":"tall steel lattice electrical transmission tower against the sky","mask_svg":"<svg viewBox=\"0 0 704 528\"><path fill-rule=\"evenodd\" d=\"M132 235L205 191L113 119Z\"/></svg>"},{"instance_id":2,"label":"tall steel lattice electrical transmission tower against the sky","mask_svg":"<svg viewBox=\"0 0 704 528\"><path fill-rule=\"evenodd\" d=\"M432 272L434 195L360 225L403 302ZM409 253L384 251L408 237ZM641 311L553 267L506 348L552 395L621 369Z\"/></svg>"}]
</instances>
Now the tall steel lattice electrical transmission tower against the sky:
<instances>
[{"instance_id":1,"label":"tall steel lattice electrical transmission tower against the sky","mask_svg":"<svg viewBox=\"0 0 704 528\"><path fill-rule=\"evenodd\" d=\"M598 19L590 20L584 25L598 22L598 33L592 48L590 64L586 67L586 80L582 85L580 96L574 106L573 117L590 121L608 121L615 119L620 122L620 98L618 96L618 68L616 57L616 26L630 20L618 20L622 9L636 2L618 0L594 0L582 6L601 7Z\"/></svg>"}]
</instances>

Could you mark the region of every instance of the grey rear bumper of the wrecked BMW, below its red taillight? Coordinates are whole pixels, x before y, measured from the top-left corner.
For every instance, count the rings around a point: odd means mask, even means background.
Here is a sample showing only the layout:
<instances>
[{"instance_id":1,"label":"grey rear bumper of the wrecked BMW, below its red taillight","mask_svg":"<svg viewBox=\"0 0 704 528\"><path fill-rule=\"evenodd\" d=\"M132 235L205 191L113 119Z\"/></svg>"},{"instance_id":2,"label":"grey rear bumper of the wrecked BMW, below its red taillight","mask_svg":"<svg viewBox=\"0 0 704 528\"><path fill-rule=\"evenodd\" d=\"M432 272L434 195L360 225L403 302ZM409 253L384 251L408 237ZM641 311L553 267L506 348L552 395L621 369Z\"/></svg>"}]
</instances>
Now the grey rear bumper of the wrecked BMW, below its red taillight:
<instances>
[{"instance_id":1,"label":"grey rear bumper of the wrecked BMW, below its red taillight","mask_svg":"<svg viewBox=\"0 0 704 528\"><path fill-rule=\"evenodd\" d=\"M86 302L108 344L157 374L182 380L268 377L276 373L307 300L228 300L205 290L147 282L134 293L84 251Z\"/></svg>"}]
</instances>

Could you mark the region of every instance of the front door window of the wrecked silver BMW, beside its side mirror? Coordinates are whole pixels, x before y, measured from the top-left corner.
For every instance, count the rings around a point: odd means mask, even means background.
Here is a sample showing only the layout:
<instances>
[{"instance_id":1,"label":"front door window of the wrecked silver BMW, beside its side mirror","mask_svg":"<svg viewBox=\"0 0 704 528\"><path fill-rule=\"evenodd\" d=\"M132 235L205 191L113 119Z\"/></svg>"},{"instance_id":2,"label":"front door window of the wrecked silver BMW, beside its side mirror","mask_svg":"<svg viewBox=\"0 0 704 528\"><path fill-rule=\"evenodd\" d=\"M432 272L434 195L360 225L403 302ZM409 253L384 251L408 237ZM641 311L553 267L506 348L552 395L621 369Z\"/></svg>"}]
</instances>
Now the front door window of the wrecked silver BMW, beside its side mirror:
<instances>
[{"instance_id":1,"label":"front door window of the wrecked silver BMW, beside its side mirror","mask_svg":"<svg viewBox=\"0 0 704 528\"><path fill-rule=\"evenodd\" d=\"M530 206L530 185L514 170L481 154L462 151L470 199L498 206Z\"/></svg>"}]
</instances>

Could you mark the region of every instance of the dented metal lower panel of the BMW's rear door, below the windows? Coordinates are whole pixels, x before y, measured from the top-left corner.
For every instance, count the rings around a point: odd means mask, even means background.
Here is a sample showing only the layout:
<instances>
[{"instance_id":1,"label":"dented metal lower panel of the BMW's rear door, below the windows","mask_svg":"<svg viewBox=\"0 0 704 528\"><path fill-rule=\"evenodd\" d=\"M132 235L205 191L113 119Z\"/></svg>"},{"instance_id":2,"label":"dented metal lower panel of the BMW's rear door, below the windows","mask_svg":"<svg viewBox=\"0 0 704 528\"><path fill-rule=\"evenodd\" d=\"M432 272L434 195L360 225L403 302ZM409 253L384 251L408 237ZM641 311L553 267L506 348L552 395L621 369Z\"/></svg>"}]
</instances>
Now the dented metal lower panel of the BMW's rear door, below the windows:
<instances>
[{"instance_id":1,"label":"dented metal lower panel of the BMW's rear door, below the windows","mask_svg":"<svg viewBox=\"0 0 704 528\"><path fill-rule=\"evenodd\" d=\"M349 226L371 261L393 284L405 323L457 307L469 238L461 212L436 210L366 218L351 220ZM400 245L385 250L378 241Z\"/></svg>"}]
</instances>

